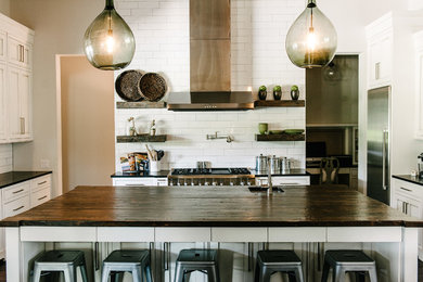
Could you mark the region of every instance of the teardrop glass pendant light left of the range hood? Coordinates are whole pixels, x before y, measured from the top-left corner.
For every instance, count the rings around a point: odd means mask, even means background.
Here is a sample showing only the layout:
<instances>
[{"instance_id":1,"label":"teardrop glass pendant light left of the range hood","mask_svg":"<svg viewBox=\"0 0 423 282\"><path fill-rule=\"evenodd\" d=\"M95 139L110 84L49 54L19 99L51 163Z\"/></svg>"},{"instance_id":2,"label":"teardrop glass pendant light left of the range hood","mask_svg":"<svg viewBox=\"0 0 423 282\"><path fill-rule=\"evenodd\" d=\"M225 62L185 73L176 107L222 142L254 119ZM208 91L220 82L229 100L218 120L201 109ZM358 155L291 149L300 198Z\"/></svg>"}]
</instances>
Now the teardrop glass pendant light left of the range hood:
<instances>
[{"instance_id":1,"label":"teardrop glass pendant light left of the range hood","mask_svg":"<svg viewBox=\"0 0 423 282\"><path fill-rule=\"evenodd\" d=\"M132 61L136 40L113 0L106 0L103 12L87 28L84 51L94 67L104 70L124 68Z\"/></svg>"}]
</instances>

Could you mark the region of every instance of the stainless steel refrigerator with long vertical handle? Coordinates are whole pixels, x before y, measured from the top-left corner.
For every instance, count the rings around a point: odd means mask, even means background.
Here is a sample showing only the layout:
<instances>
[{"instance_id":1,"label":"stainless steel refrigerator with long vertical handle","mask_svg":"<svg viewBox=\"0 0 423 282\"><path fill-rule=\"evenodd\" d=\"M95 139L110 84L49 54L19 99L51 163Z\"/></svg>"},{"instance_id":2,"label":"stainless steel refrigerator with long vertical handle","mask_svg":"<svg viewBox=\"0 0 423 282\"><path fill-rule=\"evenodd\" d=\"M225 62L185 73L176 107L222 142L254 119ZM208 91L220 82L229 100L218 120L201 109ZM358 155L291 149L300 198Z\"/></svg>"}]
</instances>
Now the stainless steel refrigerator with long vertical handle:
<instances>
[{"instance_id":1,"label":"stainless steel refrigerator with long vertical handle","mask_svg":"<svg viewBox=\"0 0 423 282\"><path fill-rule=\"evenodd\" d=\"M368 196L389 205L390 87L368 92Z\"/></svg>"}]
</instances>

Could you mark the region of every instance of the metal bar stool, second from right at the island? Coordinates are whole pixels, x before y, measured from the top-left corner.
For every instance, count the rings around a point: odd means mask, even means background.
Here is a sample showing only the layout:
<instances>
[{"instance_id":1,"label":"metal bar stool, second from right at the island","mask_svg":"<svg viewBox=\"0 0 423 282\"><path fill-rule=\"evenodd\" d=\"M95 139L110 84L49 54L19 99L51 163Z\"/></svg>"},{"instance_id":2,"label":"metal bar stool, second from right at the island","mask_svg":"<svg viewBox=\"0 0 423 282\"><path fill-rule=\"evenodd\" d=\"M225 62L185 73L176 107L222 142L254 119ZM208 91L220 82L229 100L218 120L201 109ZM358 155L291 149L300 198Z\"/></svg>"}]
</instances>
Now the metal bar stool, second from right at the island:
<instances>
[{"instance_id":1,"label":"metal bar stool, second from right at the island","mask_svg":"<svg viewBox=\"0 0 423 282\"><path fill-rule=\"evenodd\" d=\"M255 282L270 282L275 272L286 272L290 282L304 282L303 264L294 251L259 251Z\"/></svg>"}]
</instances>

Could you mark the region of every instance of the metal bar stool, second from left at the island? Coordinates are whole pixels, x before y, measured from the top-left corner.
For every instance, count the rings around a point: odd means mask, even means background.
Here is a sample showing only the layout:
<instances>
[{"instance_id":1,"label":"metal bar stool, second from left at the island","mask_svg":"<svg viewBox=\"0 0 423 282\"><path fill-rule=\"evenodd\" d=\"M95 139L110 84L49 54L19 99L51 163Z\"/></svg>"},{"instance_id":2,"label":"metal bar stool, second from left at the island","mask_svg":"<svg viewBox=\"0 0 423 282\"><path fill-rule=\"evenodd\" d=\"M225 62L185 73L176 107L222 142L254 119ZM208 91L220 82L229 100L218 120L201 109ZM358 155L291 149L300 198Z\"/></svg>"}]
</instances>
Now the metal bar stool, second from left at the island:
<instances>
[{"instance_id":1,"label":"metal bar stool, second from left at the island","mask_svg":"<svg viewBox=\"0 0 423 282\"><path fill-rule=\"evenodd\" d=\"M103 260L101 281L107 282L110 275L112 281L120 281L119 277L124 272L131 272L133 282L143 282L144 274L146 281L152 282L150 252L138 249L113 251L106 259Z\"/></svg>"}]
</instances>

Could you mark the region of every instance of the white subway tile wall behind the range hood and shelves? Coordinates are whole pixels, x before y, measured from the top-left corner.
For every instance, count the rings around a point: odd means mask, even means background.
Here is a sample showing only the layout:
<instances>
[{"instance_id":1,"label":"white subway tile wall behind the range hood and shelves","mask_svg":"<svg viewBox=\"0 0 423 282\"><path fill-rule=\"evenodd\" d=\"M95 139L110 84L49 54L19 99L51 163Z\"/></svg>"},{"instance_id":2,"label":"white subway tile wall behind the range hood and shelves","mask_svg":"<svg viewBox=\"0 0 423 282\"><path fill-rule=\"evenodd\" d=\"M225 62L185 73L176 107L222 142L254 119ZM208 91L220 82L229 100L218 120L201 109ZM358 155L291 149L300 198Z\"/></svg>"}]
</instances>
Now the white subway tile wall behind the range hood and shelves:
<instances>
[{"instance_id":1,"label":"white subway tile wall behind the range hood and shelves","mask_svg":"<svg viewBox=\"0 0 423 282\"><path fill-rule=\"evenodd\" d=\"M253 88L256 93L260 85L269 89L281 85L282 99L290 99L291 86L298 85L304 93L305 72L292 65L284 49L287 29L304 4L293 0L231 1L232 90ZM127 69L158 72L171 91L189 90L189 0L117 0L116 5L137 39L136 55ZM272 99L270 91L268 99ZM258 123L269 123L270 129L305 128L305 108L190 113L116 110L117 136L126 134L131 116L139 132L148 132L151 120L156 119L157 133L168 134L167 142L149 144L165 150L163 168L193 167L196 161L211 162L214 167L254 167L259 154L286 156L295 161L295 167L305 167L305 142L255 141ZM206 134L215 131L232 134L235 141L206 140ZM130 152L145 149L140 143L116 144L116 170L120 170L119 157Z\"/></svg>"}]
</instances>

